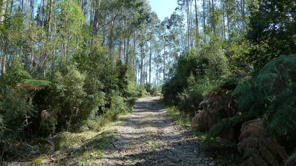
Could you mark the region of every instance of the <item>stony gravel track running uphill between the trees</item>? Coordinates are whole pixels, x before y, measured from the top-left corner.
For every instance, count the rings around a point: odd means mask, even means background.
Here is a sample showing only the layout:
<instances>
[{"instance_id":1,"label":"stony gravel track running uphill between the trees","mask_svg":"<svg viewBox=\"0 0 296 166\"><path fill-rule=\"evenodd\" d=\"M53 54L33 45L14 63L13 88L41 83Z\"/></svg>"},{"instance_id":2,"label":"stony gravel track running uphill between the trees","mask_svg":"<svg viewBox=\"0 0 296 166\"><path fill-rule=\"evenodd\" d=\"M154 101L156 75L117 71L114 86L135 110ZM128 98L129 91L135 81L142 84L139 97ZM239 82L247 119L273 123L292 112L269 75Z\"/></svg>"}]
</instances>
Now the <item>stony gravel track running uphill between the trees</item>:
<instances>
[{"instance_id":1,"label":"stony gravel track running uphill between the trees","mask_svg":"<svg viewBox=\"0 0 296 166\"><path fill-rule=\"evenodd\" d=\"M216 165L190 140L193 133L175 126L158 100L139 99L98 165Z\"/></svg>"}]
</instances>

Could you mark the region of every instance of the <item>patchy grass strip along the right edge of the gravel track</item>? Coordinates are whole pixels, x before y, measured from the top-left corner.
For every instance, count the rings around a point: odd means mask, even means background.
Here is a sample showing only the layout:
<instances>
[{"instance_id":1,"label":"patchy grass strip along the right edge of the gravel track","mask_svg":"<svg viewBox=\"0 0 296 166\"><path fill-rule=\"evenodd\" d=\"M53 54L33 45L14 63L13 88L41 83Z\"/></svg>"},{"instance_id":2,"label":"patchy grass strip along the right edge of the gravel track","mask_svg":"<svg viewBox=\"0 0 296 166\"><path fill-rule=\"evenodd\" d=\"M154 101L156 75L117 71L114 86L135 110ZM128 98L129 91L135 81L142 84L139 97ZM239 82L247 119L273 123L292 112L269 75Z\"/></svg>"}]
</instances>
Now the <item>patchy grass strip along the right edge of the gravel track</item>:
<instances>
[{"instance_id":1,"label":"patchy grass strip along the right edge of the gravel track","mask_svg":"<svg viewBox=\"0 0 296 166\"><path fill-rule=\"evenodd\" d=\"M166 108L168 116L170 116L178 126L189 129L193 117L184 114L182 111L178 110L176 106L165 107L163 104L161 105ZM201 147L207 133L199 132L197 128L198 126L192 129L195 133L192 135L192 140ZM218 161L221 165L242 164L242 154L239 153L237 144L234 142L215 138L208 143L204 151L209 158L213 158L213 160Z\"/></svg>"}]
</instances>

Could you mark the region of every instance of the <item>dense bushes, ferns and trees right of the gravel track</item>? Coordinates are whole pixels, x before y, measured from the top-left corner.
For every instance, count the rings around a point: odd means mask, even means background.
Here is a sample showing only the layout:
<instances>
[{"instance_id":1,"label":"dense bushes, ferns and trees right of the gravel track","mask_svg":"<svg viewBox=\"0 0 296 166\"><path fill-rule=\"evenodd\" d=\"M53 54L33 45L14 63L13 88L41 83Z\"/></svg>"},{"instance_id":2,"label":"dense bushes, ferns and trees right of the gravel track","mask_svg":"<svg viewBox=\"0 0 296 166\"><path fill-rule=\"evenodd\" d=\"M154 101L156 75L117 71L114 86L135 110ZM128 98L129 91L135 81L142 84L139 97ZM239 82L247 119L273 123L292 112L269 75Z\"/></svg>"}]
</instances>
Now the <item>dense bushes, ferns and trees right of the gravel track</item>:
<instances>
[{"instance_id":1,"label":"dense bushes, ferns and trees right of the gravel track","mask_svg":"<svg viewBox=\"0 0 296 166\"><path fill-rule=\"evenodd\" d=\"M182 52L173 66L162 87L162 102L170 106L168 114L177 124L191 122L201 147L225 155L216 155L217 160L237 159L227 165L293 166L296 45L290 33L295 32L295 20L271 11L289 15L295 4L259 0L245 5L247 25L232 27L228 40L224 18L210 17L210 29L198 40L202 44ZM243 17L237 17L237 24ZM217 27L222 33L217 34Z\"/></svg>"}]
</instances>

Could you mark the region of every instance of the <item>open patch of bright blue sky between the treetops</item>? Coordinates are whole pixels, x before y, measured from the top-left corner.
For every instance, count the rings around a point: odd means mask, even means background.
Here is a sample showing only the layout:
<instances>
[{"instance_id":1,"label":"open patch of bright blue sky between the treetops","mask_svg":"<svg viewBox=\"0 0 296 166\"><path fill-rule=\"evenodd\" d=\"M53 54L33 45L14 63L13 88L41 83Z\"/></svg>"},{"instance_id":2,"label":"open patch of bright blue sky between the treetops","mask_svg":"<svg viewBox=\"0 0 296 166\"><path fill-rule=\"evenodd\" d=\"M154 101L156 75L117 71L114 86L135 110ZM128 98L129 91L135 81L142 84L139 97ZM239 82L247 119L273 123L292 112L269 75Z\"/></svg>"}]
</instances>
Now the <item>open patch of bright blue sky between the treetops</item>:
<instances>
[{"instance_id":1,"label":"open patch of bright blue sky between the treetops","mask_svg":"<svg viewBox=\"0 0 296 166\"><path fill-rule=\"evenodd\" d=\"M177 7L176 0L149 0L153 11L158 15L158 18L163 21L165 17L170 17Z\"/></svg>"}]
</instances>

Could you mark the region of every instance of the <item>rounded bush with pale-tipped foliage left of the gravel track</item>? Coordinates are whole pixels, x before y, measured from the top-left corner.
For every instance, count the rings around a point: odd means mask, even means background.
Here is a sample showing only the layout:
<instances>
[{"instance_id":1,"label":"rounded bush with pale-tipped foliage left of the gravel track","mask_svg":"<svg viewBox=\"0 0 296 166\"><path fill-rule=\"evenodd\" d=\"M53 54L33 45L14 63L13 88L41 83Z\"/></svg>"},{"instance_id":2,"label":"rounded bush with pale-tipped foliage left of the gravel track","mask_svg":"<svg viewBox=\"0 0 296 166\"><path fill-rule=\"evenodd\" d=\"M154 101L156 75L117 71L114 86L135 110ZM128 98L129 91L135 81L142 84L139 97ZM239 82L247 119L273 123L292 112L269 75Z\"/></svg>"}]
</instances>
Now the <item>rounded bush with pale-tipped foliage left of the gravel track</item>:
<instances>
[{"instance_id":1,"label":"rounded bush with pale-tipped foliage left of the gravel track","mask_svg":"<svg viewBox=\"0 0 296 166\"><path fill-rule=\"evenodd\" d=\"M67 67L65 73L57 72L52 82L50 109L58 116L59 130L81 129L102 106L104 94L74 65Z\"/></svg>"}]
</instances>

